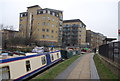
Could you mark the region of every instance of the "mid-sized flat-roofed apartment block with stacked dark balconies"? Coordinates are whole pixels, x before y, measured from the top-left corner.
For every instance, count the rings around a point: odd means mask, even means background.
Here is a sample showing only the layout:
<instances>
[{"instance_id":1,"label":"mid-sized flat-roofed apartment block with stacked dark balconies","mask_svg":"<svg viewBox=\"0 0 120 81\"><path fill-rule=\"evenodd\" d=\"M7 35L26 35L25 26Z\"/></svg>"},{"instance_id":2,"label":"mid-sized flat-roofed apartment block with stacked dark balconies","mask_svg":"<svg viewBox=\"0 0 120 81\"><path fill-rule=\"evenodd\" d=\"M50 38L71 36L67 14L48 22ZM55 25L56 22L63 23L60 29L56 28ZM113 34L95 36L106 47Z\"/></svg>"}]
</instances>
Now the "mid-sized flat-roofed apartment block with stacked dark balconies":
<instances>
[{"instance_id":1,"label":"mid-sized flat-roofed apartment block with stacked dark balconies","mask_svg":"<svg viewBox=\"0 0 120 81\"><path fill-rule=\"evenodd\" d=\"M82 47L86 44L86 25L80 19L63 21L63 46Z\"/></svg>"}]
</instances>

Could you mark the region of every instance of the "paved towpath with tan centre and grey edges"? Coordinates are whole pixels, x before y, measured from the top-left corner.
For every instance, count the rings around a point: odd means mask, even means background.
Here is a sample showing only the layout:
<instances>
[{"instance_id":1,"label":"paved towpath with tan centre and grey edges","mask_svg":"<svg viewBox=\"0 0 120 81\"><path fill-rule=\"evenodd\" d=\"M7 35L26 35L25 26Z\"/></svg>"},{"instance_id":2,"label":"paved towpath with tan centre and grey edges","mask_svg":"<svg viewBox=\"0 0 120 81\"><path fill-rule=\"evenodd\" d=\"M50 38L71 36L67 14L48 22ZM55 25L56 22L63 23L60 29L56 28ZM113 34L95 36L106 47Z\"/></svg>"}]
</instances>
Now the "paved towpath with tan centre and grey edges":
<instances>
[{"instance_id":1,"label":"paved towpath with tan centre and grey edges","mask_svg":"<svg viewBox=\"0 0 120 81\"><path fill-rule=\"evenodd\" d=\"M56 79L99 79L93 56L93 53L82 55Z\"/></svg>"}]
</instances>

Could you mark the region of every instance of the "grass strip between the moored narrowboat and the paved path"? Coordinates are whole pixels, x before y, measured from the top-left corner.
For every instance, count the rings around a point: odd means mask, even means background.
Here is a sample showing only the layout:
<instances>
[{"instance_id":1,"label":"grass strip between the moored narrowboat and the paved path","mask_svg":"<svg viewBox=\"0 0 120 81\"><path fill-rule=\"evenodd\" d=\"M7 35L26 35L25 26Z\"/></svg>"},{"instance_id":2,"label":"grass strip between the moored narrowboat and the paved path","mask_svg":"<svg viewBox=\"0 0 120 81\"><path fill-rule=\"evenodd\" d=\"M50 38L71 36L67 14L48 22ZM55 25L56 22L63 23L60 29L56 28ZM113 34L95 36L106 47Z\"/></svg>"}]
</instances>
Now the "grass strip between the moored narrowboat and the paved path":
<instances>
[{"instance_id":1,"label":"grass strip between the moored narrowboat and the paved path","mask_svg":"<svg viewBox=\"0 0 120 81\"><path fill-rule=\"evenodd\" d=\"M65 60L60 64L57 64L55 67L46 72L43 76L36 77L36 79L54 79L57 75L64 71L71 63L73 63L79 57L80 56L76 55L68 60Z\"/></svg>"}]
</instances>

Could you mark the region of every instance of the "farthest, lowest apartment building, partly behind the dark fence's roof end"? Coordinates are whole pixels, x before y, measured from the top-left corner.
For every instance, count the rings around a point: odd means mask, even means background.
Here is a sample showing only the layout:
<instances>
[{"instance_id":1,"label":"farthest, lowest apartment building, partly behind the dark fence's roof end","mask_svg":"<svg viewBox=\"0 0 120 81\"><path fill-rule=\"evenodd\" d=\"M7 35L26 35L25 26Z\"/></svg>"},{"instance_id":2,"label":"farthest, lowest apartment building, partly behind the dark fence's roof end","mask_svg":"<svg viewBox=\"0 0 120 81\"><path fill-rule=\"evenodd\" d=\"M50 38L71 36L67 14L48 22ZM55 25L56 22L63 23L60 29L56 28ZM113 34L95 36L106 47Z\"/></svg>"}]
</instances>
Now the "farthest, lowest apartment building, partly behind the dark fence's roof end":
<instances>
[{"instance_id":1,"label":"farthest, lowest apartment building, partly behind the dark fence's roof end","mask_svg":"<svg viewBox=\"0 0 120 81\"><path fill-rule=\"evenodd\" d=\"M103 40L106 37L103 34L93 32L91 30L86 31L86 42L91 49L98 48L103 44Z\"/></svg>"}]
</instances>

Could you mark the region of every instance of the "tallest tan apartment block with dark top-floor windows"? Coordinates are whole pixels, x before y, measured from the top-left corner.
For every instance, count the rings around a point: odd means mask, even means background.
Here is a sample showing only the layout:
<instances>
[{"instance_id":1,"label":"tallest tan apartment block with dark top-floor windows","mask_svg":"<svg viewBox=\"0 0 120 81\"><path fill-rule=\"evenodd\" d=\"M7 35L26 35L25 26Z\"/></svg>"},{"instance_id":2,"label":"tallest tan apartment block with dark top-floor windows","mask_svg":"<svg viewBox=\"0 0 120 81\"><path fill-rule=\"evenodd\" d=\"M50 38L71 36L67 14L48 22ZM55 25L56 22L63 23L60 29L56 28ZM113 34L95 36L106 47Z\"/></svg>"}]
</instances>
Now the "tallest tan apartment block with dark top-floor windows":
<instances>
[{"instance_id":1,"label":"tallest tan apartment block with dark top-floor windows","mask_svg":"<svg viewBox=\"0 0 120 81\"><path fill-rule=\"evenodd\" d=\"M62 44L63 12L39 5L27 7L20 13L19 36L33 40L38 45Z\"/></svg>"}]
</instances>

